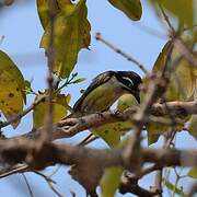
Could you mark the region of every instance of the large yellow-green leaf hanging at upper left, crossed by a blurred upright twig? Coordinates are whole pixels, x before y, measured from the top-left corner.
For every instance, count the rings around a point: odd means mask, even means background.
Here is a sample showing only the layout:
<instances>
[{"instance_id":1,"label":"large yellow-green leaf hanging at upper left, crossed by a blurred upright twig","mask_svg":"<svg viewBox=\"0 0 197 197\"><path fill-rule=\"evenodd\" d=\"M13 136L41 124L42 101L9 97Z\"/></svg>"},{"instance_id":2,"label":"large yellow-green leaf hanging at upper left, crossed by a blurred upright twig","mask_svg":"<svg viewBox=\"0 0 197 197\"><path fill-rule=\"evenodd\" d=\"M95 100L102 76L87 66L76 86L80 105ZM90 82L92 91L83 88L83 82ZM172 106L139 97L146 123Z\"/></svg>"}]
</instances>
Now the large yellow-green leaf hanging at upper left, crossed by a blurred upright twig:
<instances>
[{"instance_id":1,"label":"large yellow-green leaf hanging at upper left, crossed by a blurred upright twig","mask_svg":"<svg viewBox=\"0 0 197 197\"><path fill-rule=\"evenodd\" d=\"M42 2L42 0L39 0ZM38 1L38 2L39 2ZM61 78L68 78L77 63L78 53L90 45L90 23L86 19L88 10L85 0L80 0L77 4L70 1L57 0L59 10L54 19L54 72ZM38 5L40 3L37 3ZM43 7L48 2L43 1ZM50 27L48 11L44 13L38 7L40 21L45 26L40 47L48 50L50 43ZM45 16L43 16L45 15Z\"/></svg>"}]
</instances>

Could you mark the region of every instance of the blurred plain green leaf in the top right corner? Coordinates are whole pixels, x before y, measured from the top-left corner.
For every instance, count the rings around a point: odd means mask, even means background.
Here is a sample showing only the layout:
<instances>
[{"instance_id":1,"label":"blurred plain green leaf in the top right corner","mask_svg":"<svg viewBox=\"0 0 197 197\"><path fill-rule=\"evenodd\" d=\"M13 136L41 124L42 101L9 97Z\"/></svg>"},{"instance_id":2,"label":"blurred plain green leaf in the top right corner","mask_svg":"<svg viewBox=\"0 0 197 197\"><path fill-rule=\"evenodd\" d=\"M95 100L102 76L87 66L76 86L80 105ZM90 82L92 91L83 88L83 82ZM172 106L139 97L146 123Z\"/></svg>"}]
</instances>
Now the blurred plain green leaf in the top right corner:
<instances>
[{"instance_id":1,"label":"blurred plain green leaf in the top right corner","mask_svg":"<svg viewBox=\"0 0 197 197\"><path fill-rule=\"evenodd\" d=\"M181 23L186 23L189 27L194 24L195 12L193 0L157 0L167 11L179 19Z\"/></svg>"}]
</instances>

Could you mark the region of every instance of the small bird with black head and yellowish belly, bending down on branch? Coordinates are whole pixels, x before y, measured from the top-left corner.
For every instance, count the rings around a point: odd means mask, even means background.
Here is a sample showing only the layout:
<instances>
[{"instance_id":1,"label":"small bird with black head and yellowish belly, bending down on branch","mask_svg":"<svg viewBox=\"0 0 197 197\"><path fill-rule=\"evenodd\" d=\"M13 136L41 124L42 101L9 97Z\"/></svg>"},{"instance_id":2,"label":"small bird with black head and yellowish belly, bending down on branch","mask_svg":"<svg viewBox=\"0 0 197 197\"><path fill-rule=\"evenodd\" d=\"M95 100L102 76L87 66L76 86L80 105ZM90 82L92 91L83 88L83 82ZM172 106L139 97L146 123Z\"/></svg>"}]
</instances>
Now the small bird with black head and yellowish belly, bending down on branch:
<instances>
[{"instance_id":1,"label":"small bird with black head and yellowish belly, bending down on branch","mask_svg":"<svg viewBox=\"0 0 197 197\"><path fill-rule=\"evenodd\" d=\"M106 71L93 79L82 96L76 102L68 117L80 117L109 109L123 94L132 94L140 103L141 78L134 71Z\"/></svg>"}]
</instances>

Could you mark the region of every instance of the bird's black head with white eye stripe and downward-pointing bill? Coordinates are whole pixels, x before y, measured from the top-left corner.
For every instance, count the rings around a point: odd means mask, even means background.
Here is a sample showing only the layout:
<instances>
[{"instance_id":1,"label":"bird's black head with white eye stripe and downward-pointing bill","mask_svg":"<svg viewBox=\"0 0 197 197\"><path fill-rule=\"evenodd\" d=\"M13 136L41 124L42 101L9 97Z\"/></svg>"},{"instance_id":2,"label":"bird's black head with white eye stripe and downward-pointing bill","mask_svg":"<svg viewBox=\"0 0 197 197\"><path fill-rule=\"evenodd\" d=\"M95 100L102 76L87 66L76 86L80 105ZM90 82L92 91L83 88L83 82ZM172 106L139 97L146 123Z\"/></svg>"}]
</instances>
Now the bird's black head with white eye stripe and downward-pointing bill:
<instances>
[{"instance_id":1,"label":"bird's black head with white eye stripe and downward-pointing bill","mask_svg":"<svg viewBox=\"0 0 197 197\"><path fill-rule=\"evenodd\" d=\"M132 71L116 71L115 77L120 82L123 90L131 93L140 103L139 84L142 83L140 76Z\"/></svg>"}]
</instances>

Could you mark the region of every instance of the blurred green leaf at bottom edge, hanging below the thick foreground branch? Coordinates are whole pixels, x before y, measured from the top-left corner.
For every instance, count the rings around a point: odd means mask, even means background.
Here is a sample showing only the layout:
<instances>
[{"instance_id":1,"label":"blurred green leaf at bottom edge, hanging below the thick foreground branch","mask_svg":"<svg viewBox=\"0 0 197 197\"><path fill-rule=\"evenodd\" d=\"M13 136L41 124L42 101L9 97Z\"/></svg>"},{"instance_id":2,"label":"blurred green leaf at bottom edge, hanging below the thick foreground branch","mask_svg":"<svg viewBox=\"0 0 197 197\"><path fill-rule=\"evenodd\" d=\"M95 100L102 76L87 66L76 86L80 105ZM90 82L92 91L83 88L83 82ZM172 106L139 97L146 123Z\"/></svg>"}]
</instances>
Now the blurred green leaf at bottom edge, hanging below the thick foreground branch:
<instances>
[{"instance_id":1,"label":"blurred green leaf at bottom edge, hanging below the thick foreground branch","mask_svg":"<svg viewBox=\"0 0 197 197\"><path fill-rule=\"evenodd\" d=\"M119 186L120 177L123 174L121 167L108 167L100 182L102 189L102 197L112 197L115 195L117 187Z\"/></svg>"}]
</instances>

